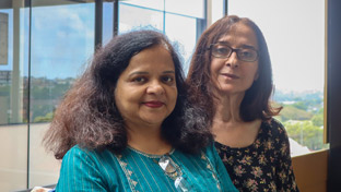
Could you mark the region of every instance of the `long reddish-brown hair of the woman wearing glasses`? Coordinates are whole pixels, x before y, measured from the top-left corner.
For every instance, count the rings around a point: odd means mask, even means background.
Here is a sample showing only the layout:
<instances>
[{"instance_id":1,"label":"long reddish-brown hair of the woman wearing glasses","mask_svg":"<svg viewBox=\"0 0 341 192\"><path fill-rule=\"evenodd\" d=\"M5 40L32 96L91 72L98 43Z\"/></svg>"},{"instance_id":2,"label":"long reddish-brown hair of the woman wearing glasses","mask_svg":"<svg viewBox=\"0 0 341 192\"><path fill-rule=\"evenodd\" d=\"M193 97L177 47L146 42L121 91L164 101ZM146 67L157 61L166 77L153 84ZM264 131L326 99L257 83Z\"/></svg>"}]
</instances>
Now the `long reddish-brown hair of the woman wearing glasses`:
<instances>
[{"instance_id":1,"label":"long reddish-brown hair of the woman wearing glasses","mask_svg":"<svg viewBox=\"0 0 341 192\"><path fill-rule=\"evenodd\" d=\"M214 85L211 81L210 65L212 58L208 47L219 41L224 35L227 35L232 26L238 23L243 23L254 29L259 45L259 77L245 93L239 110L242 120L246 122L256 119L268 120L278 115L282 109L281 107L273 108L269 100L273 92L273 83L271 61L264 36L251 20L230 15L220 19L203 32L197 44L186 80L189 86L190 100L205 111L209 123L212 123L215 107L213 105L214 95L212 88L210 88Z\"/></svg>"}]
</instances>

